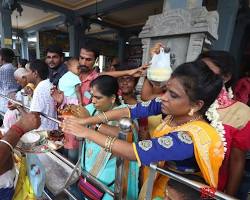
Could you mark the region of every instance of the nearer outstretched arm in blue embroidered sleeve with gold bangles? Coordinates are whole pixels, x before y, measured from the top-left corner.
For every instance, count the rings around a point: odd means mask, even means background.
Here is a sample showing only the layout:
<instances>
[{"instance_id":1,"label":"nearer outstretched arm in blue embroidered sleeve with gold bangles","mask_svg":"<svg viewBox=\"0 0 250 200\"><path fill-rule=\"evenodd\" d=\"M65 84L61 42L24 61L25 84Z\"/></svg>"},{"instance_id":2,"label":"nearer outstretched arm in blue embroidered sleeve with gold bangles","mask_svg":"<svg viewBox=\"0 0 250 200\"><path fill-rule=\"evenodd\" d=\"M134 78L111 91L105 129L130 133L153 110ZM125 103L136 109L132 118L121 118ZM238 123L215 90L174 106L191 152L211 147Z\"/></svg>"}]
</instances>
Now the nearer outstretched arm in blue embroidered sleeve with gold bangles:
<instances>
[{"instance_id":1,"label":"nearer outstretched arm in blue embroidered sleeve with gold bangles","mask_svg":"<svg viewBox=\"0 0 250 200\"><path fill-rule=\"evenodd\" d=\"M114 155L128 160L137 160L139 164L149 165L151 162L184 160L194 156L192 139L184 132L173 132L167 136L131 144L72 123L67 120L67 117L61 127L67 133L91 140Z\"/></svg>"}]
</instances>

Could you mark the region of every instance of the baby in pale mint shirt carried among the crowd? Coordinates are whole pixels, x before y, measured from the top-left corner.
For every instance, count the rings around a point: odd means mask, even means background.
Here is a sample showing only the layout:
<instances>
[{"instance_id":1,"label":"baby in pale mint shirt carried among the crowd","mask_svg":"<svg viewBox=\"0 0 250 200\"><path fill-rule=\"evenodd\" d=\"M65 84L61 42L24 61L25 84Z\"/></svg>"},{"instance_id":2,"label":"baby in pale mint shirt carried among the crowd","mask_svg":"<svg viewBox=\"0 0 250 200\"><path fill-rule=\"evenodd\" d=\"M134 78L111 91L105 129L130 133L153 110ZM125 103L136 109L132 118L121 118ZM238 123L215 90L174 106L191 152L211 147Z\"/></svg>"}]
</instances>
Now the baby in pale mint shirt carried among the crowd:
<instances>
[{"instance_id":1,"label":"baby in pale mint shirt carried among the crowd","mask_svg":"<svg viewBox=\"0 0 250 200\"><path fill-rule=\"evenodd\" d=\"M78 59L71 58L67 62L68 72L64 74L58 83L58 88L64 93L68 104L82 105L81 80L79 78L80 66Z\"/></svg>"}]
</instances>

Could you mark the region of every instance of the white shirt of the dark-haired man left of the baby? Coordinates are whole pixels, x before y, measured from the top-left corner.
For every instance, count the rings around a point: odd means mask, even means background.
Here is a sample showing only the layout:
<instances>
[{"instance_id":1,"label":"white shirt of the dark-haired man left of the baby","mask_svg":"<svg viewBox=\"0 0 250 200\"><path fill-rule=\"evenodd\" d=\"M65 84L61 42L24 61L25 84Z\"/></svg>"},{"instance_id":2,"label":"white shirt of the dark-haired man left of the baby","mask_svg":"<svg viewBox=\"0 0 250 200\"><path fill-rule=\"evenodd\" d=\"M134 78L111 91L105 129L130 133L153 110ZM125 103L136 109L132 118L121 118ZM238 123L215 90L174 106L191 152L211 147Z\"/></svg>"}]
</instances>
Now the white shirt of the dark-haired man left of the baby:
<instances>
[{"instance_id":1,"label":"white shirt of the dark-haired man left of the baby","mask_svg":"<svg viewBox=\"0 0 250 200\"><path fill-rule=\"evenodd\" d=\"M37 85L31 100L30 111L42 112L53 118L57 117L55 102L50 95L52 86L49 79L43 80ZM41 116L41 126L38 130L55 130L57 128L57 123Z\"/></svg>"}]
</instances>

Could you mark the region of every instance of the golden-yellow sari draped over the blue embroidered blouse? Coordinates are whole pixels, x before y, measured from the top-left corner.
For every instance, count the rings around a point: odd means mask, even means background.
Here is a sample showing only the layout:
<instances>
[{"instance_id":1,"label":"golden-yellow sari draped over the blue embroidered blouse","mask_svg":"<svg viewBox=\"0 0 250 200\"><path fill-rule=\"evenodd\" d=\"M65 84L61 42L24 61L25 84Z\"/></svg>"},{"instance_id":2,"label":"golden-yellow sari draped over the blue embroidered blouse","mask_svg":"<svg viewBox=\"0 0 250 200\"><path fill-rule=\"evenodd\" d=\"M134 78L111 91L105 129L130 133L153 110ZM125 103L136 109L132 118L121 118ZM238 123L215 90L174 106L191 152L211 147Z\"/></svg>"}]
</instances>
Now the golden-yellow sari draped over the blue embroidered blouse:
<instances>
[{"instance_id":1,"label":"golden-yellow sari draped over the blue embroidered blouse","mask_svg":"<svg viewBox=\"0 0 250 200\"><path fill-rule=\"evenodd\" d=\"M219 169L224 159L224 147L219 134L204 121L192 121L178 127L170 127L167 123L162 123L156 128L153 136L161 137L176 131L189 133L194 144L195 159L201 175L207 184L216 188ZM167 182L168 177L157 175L152 199L156 197L164 198Z\"/></svg>"}]
</instances>

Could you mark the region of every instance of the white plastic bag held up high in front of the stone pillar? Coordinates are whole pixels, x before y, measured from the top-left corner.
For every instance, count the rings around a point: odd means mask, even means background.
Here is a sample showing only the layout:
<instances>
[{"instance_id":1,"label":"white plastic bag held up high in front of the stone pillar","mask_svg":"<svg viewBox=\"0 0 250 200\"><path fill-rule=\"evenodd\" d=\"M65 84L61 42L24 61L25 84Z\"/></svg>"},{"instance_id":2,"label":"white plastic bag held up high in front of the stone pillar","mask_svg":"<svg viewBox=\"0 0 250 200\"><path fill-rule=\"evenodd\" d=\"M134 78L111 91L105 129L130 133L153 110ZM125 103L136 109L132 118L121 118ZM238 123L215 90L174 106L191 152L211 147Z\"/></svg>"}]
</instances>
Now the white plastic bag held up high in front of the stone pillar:
<instances>
[{"instance_id":1,"label":"white plastic bag held up high in front of the stone pillar","mask_svg":"<svg viewBox=\"0 0 250 200\"><path fill-rule=\"evenodd\" d=\"M150 63L151 65L147 70L148 80L164 82L170 78L172 73L170 53L165 53L164 49L160 48L160 53L154 54Z\"/></svg>"}]
</instances>

